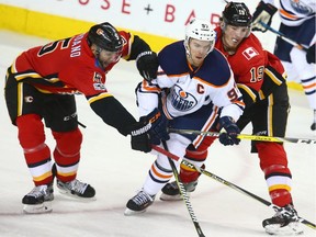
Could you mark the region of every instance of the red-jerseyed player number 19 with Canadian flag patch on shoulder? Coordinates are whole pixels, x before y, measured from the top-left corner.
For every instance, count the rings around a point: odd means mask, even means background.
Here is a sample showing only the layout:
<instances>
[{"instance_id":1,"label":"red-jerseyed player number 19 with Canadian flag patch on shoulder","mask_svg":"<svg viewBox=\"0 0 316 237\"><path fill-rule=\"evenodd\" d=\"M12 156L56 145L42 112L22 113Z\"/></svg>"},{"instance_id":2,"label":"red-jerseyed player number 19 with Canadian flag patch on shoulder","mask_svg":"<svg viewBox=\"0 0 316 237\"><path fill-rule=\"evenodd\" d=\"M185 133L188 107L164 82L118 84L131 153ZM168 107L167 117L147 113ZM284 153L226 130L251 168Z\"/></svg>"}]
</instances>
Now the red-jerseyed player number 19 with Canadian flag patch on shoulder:
<instances>
[{"instance_id":1,"label":"red-jerseyed player number 19 with Canadian flag patch on shoulder","mask_svg":"<svg viewBox=\"0 0 316 237\"><path fill-rule=\"evenodd\" d=\"M245 3L230 2L223 11L221 26L216 29L215 48L229 61L246 103L237 125L242 131L251 123L256 135L284 137L290 110L285 71L281 61L264 50L259 40L251 34L250 23L251 14ZM184 158L198 167L204 166L207 148L215 139L208 136L198 147L190 145ZM234 144L225 133L219 135L219 140L226 145ZM251 151L258 153L272 203L281 206L273 217L263 221L266 232L301 234L302 227L291 195L292 176L283 144L252 142ZM189 192L195 190L199 176L198 171L180 166L180 179ZM177 183L166 184L160 199L180 200Z\"/></svg>"}]
</instances>

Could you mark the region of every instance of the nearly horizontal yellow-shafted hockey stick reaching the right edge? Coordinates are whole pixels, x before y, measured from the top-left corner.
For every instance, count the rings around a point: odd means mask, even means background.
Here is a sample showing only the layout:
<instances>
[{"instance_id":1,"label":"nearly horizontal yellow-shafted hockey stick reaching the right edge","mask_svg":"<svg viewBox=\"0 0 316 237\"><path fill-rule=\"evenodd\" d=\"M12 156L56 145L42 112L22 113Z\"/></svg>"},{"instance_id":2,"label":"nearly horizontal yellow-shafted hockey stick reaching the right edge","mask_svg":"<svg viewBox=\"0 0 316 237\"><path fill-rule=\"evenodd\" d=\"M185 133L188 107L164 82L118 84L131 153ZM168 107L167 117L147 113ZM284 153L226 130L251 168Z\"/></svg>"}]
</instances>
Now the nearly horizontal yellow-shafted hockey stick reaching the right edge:
<instances>
[{"instance_id":1,"label":"nearly horizontal yellow-shafted hockey stick reaching the right edge","mask_svg":"<svg viewBox=\"0 0 316 237\"><path fill-rule=\"evenodd\" d=\"M221 133L217 132L203 132L203 131L194 131L194 129L177 129L169 128L170 133L178 134L191 134L191 135L205 135L218 137ZM260 135L250 135L250 134L239 134L237 136L239 139L250 139L250 140L259 140L259 142L271 142L271 143L302 143L302 144L316 144L315 139L309 138L291 138L291 137L272 137L272 136L260 136Z\"/></svg>"}]
</instances>

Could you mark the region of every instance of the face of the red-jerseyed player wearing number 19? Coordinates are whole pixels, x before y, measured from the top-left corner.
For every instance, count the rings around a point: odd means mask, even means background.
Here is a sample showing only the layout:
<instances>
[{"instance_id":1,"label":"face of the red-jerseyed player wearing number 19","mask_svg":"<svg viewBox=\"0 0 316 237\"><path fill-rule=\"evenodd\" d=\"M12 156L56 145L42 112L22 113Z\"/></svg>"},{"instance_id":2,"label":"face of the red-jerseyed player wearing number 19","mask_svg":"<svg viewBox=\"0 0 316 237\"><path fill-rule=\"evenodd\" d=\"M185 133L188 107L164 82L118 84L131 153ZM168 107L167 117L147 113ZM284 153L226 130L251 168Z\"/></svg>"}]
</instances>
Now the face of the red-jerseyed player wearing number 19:
<instances>
[{"instance_id":1,"label":"face of the red-jerseyed player wearing number 19","mask_svg":"<svg viewBox=\"0 0 316 237\"><path fill-rule=\"evenodd\" d=\"M249 27L247 26L226 25L222 37L225 48L236 49L248 32Z\"/></svg>"}]
</instances>

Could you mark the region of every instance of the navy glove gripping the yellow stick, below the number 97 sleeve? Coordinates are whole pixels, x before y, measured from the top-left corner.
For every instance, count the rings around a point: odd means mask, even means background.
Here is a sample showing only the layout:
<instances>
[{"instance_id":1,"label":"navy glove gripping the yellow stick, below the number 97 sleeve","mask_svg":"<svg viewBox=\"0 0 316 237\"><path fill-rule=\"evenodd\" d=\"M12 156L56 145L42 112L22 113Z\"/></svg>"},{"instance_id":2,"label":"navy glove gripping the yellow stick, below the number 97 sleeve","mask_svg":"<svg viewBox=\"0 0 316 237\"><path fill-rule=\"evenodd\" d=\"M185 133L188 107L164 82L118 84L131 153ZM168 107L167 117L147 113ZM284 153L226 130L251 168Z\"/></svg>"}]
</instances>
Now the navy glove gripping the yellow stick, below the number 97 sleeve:
<instances>
[{"instance_id":1,"label":"navy glove gripping the yellow stick, below the number 97 sleeve","mask_svg":"<svg viewBox=\"0 0 316 237\"><path fill-rule=\"evenodd\" d=\"M240 143L240 139L237 138L240 129L230 116L221 117L219 127L221 129L224 127L226 131L226 133L221 133L219 135L219 142L224 146L233 146L234 144L238 145Z\"/></svg>"}]
</instances>

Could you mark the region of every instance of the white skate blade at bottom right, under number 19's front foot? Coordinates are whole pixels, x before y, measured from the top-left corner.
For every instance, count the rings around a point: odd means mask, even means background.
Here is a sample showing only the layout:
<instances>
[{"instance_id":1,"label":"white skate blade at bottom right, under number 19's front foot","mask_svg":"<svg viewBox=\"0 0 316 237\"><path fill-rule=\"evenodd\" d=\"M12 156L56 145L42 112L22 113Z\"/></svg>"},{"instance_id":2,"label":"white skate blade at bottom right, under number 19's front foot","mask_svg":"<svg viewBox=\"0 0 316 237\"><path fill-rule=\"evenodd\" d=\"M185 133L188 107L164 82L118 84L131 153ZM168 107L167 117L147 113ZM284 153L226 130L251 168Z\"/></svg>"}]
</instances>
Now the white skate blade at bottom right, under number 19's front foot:
<instances>
[{"instance_id":1,"label":"white skate blade at bottom right, under number 19's front foot","mask_svg":"<svg viewBox=\"0 0 316 237\"><path fill-rule=\"evenodd\" d=\"M279 224L266 226L266 232L269 235L278 236L297 236L303 235L304 230L301 223L290 223L286 226L280 227Z\"/></svg>"}]
</instances>

